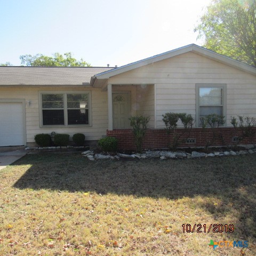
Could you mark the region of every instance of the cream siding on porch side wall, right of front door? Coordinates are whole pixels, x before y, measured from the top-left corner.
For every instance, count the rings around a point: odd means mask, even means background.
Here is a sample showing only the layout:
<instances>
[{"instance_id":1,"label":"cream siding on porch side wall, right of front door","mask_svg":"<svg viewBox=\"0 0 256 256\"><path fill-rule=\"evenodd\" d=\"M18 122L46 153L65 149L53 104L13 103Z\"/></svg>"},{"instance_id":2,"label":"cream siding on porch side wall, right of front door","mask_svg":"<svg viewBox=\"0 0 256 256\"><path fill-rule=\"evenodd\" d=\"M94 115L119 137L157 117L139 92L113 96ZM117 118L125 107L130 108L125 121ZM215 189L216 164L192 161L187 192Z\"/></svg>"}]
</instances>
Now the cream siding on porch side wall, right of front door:
<instances>
[{"instance_id":1,"label":"cream siding on porch side wall, right of front door","mask_svg":"<svg viewBox=\"0 0 256 256\"><path fill-rule=\"evenodd\" d=\"M149 128L155 128L155 86L137 85L137 115L150 116Z\"/></svg>"}]
</instances>

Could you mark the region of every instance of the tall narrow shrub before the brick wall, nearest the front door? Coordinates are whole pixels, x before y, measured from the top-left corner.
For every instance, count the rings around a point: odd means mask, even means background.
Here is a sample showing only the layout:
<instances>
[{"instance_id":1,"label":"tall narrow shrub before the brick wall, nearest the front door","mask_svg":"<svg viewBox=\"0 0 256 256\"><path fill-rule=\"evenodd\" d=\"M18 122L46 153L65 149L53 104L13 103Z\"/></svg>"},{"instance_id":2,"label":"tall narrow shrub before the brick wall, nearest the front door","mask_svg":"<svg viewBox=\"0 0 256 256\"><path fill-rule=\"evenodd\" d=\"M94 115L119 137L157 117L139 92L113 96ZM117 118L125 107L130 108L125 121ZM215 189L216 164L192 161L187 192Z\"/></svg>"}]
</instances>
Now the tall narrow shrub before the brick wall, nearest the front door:
<instances>
[{"instance_id":1,"label":"tall narrow shrub before the brick wall, nearest the front door","mask_svg":"<svg viewBox=\"0 0 256 256\"><path fill-rule=\"evenodd\" d=\"M137 147L137 151L141 153L142 150L142 142L143 138L146 135L147 124L150 120L149 116L132 116L129 118L131 121L130 125L133 129L135 145Z\"/></svg>"}]
</instances>

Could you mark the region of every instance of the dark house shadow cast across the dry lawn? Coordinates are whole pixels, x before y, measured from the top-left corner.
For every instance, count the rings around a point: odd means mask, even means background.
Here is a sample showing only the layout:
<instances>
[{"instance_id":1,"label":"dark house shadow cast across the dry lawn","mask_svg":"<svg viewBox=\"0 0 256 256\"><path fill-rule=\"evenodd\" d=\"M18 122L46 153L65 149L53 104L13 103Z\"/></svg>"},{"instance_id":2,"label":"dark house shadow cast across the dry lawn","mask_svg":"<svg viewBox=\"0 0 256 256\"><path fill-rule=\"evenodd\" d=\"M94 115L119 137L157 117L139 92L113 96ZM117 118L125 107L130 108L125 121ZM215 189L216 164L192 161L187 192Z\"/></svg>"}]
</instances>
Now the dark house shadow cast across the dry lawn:
<instances>
[{"instance_id":1,"label":"dark house shadow cast across the dry lawn","mask_svg":"<svg viewBox=\"0 0 256 256\"><path fill-rule=\"evenodd\" d=\"M218 217L239 213L239 234L256 237L256 157L132 161L94 161L81 155L27 155L15 165L32 166L15 188L95 191L101 195L178 199L206 196L221 204L200 205ZM254 196L253 196L254 195ZM198 205L198 204L197 204Z\"/></svg>"}]
</instances>

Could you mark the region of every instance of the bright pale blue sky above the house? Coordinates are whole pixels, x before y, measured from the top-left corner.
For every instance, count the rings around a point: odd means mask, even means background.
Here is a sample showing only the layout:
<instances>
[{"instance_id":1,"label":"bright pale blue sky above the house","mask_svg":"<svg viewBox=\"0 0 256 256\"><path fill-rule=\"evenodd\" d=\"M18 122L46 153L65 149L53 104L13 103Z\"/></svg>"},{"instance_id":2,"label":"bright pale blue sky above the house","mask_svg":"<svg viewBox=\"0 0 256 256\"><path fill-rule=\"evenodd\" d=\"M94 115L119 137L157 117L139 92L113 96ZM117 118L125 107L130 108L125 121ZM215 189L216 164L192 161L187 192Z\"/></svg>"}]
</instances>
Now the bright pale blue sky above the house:
<instances>
[{"instance_id":1,"label":"bright pale blue sky above the house","mask_svg":"<svg viewBox=\"0 0 256 256\"><path fill-rule=\"evenodd\" d=\"M122 66L196 43L210 0L0 0L0 63L72 52L92 66Z\"/></svg>"}]
</instances>

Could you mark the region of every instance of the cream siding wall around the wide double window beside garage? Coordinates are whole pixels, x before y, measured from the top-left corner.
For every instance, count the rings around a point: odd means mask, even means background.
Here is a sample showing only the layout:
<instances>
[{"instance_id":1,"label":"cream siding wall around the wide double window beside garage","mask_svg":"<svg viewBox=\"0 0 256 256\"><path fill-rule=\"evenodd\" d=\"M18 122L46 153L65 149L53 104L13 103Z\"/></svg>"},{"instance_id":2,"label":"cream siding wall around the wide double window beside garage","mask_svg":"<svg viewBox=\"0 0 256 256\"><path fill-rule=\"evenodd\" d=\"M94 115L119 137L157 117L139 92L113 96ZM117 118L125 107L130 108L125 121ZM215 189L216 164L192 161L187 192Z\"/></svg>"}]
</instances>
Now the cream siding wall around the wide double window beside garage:
<instances>
[{"instance_id":1,"label":"cream siding wall around the wide double window beside garage","mask_svg":"<svg viewBox=\"0 0 256 256\"><path fill-rule=\"evenodd\" d=\"M73 126L73 127L40 127L39 126L39 92L43 91L91 91L92 93L92 126ZM107 92L100 89L85 88L56 88L56 87L38 87L38 88L0 88L0 99L25 99L26 100L26 132L27 142L34 142L34 136L38 133L68 133L72 136L74 133L84 133L86 140L98 140L102 135L106 135L108 129L108 98ZM27 100L31 102L27 106Z\"/></svg>"}]
</instances>

